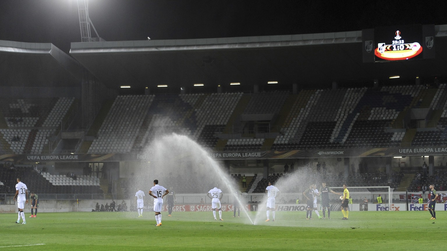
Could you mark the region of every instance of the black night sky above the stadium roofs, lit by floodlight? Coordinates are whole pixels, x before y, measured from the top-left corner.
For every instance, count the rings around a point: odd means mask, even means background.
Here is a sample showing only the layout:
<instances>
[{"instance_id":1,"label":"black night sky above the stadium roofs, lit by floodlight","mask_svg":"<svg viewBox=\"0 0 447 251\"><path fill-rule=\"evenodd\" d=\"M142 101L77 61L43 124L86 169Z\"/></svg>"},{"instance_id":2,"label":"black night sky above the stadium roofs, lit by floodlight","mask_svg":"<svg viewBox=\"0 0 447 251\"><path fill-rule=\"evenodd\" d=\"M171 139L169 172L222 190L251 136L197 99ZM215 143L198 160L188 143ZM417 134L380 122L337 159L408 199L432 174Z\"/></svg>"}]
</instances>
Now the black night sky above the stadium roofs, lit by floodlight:
<instances>
[{"instance_id":1,"label":"black night sky above the stadium roofs, lit by floodlight","mask_svg":"<svg viewBox=\"0 0 447 251\"><path fill-rule=\"evenodd\" d=\"M222 38L447 24L447 1L90 0L89 16L106 41ZM354 2L354 1L350 1ZM92 36L94 35L92 29ZM1 0L0 39L80 42L76 0Z\"/></svg>"}]
</instances>

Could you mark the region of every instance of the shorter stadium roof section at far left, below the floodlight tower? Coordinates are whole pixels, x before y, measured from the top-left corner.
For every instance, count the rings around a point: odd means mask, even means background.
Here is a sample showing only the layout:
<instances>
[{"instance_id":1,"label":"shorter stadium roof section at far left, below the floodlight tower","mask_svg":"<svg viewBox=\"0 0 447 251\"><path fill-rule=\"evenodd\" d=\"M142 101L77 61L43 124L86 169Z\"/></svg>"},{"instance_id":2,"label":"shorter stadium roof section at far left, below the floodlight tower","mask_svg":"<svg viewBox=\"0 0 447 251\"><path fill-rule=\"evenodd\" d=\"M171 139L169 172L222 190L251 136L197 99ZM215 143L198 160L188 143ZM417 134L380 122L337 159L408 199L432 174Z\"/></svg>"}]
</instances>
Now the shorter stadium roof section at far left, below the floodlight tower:
<instances>
[{"instance_id":1,"label":"shorter stadium roof section at far left, below the floodlight tower","mask_svg":"<svg viewBox=\"0 0 447 251\"><path fill-rule=\"evenodd\" d=\"M75 59L51 43L0 40L1 86L80 86L84 72Z\"/></svg>"}]
</instances>

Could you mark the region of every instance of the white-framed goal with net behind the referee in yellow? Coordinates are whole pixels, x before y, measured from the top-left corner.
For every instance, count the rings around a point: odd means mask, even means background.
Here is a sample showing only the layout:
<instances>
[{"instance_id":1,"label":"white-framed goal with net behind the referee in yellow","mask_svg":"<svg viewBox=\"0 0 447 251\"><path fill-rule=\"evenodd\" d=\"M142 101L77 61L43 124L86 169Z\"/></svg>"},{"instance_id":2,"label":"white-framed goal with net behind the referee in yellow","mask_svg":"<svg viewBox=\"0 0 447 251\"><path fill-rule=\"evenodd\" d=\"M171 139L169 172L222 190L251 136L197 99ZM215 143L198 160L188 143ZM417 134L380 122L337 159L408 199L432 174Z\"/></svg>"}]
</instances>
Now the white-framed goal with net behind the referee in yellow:
<instances>
[{"instance_id":1,"label":"white-framed goal with net behind the referee in yellow","mask_svg":"<svg viewBox=\"0 0 447 251\"><path fill-rule=\"evenodd\" d=\"M342 187L332 187L331 189L334 192L343 194ZM357 211L357 209L360 211L375 211L375 208L372 208L371 204L378 204L377 197L379 196L382 197L381 205L383 207L387 207L392 204L393 188L391 187L348 187L348 190L350 196L350 207L355 211ZM341 203L339 195L333 193L329 194L331 203L334 201Z\"/></svg>"}]
</instances>

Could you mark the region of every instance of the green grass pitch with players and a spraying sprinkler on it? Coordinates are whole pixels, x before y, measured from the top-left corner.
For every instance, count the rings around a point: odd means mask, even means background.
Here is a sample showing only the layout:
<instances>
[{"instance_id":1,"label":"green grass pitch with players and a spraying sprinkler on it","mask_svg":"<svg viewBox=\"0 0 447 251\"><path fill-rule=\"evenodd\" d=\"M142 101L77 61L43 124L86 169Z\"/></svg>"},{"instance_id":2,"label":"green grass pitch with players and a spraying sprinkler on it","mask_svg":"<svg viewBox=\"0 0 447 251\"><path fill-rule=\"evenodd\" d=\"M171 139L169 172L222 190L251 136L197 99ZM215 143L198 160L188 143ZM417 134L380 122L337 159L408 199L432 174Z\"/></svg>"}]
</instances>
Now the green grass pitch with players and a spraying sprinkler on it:
<instances>
[{"instance_id":1,"label":"green grass pitch with players and a spraying sprinkler on it","mask_svg":"<svg viewBox=\"0 0 447 251\"><path fill-rule=\"evenodd\" d=\"M251 212L253 213L253 212ZM430 243L443 250L447 230L444 212L437 220L422 212L351 212L341 220L306 220L305 212L277 212L275 222L248 223L224 212L214 221L211 212L163 214L156 227L153 212L38 213L27 224L17 224L17 213L0 215L0 251L3 250L410 250ZM255 217L254 213L251 217ZM439 239L437 239L439 236ZM41 245L36 245L41 244ZM22 246L36 245L36 246ZM21 246L21 247L12 247ZM424 245L423 245L424 246Z\"/></svg>"}]
</instances>

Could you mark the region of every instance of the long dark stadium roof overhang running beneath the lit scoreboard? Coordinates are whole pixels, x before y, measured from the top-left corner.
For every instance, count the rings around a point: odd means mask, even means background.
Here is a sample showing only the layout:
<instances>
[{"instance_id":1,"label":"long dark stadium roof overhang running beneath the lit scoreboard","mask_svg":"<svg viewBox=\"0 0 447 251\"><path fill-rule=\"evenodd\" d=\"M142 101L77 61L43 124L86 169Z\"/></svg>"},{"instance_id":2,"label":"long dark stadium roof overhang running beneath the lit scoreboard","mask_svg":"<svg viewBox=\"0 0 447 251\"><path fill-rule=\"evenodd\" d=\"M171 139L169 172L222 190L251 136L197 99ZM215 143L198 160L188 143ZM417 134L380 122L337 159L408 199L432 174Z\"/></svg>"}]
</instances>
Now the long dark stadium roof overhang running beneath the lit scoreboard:
<instances>
[{"instance_id":1,"label":"long dark stadium roof overhang running beneath the lit scoreboard","mask_svg":"<svg viewBox=\"0 0 447 251\"><path fill-rule=\"evenodd\" d=\"M447 75L447 25L437 25L436 58L391 63L362 62L362 31L284 36L75 42L70 54L108 87L157 92L223 92L363 86L378 79L414 83L415 77ZM279 84L267 84L278 81ZM406 82L405 82L406 81ZM410 81L410 82L408 82ZM240 83L231 86L230 83ZM193 84L204 84L193 87ZM160 88L158 88L160 90Z\"/></svg>"}]
</instances>

